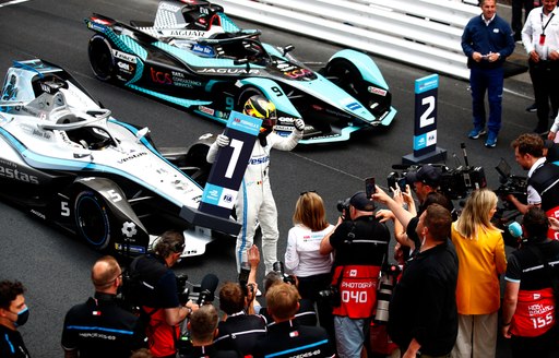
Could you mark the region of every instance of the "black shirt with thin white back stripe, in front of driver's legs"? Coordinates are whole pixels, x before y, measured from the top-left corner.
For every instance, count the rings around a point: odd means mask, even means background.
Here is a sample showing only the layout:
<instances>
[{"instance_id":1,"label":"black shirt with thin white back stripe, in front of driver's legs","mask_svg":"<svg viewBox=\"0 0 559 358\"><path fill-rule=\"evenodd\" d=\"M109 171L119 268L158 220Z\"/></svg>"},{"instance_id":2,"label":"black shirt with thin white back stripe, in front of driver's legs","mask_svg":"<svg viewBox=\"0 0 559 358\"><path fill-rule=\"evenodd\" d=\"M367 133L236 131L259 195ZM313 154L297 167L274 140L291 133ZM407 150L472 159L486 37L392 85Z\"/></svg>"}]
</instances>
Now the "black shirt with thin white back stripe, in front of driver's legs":
<instances>
[{"instance_id":1,"label":"black shirt with thin white back stripe, in front of driver's legs","mask_svg":"<svg viewBox=\"0 0 559 358\"><path fill-rule=\"evenodd\" d=\"M258 314L239 312L227 317L217 326L214 346L219 350L237 350L242 356L252 354L257 339L266 334L266 321Z\"/></svg>"}]
</instances>

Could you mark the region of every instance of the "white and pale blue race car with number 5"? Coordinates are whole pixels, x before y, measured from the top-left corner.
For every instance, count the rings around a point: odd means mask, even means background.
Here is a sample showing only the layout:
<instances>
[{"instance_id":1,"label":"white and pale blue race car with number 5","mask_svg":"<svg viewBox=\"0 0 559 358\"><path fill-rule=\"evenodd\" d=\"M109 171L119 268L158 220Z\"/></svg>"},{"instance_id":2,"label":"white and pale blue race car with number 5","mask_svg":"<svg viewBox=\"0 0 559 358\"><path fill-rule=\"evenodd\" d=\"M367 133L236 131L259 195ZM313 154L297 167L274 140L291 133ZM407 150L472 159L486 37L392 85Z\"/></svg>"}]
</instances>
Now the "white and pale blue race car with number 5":
<instances>
[{"instance_id":1,"label":"white and pale blue race car with number 5","mask_svg":"<svg viewBox=\"0 0 559 358\"><path fill-rule=\"evenodd\" d=\"M120 254L146 252L168 228L183 230L183 256L238 232L229 219L201 227L185 218L202 196L210 139L158 151L147 128L118 121L68 72L38 59L14 62L0 94L2 198Z\"/></svg>"}]
</instances>

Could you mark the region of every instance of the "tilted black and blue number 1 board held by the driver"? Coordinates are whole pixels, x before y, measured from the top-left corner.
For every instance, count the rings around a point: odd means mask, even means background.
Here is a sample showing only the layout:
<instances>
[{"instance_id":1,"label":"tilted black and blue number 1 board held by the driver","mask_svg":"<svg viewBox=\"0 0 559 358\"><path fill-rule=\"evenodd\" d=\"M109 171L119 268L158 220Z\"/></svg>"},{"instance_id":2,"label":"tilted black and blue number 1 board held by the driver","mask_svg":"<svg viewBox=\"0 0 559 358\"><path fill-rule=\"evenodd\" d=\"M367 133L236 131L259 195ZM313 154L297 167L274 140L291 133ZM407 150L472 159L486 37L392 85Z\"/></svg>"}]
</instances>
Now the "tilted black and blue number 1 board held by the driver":
<instances>
[{"instance_id":1,"label":"tilted black and blue number 1 board held by the driver","mask_svg":"<svg viewBox=\"0 0 559 358\"><path fill-rule=\"evenodd\" d=\"M231 111L224 131L229 145L217 152L202 194L201 212L229 217L261 123L260 119Z\"/></svg>"}]
</instances>

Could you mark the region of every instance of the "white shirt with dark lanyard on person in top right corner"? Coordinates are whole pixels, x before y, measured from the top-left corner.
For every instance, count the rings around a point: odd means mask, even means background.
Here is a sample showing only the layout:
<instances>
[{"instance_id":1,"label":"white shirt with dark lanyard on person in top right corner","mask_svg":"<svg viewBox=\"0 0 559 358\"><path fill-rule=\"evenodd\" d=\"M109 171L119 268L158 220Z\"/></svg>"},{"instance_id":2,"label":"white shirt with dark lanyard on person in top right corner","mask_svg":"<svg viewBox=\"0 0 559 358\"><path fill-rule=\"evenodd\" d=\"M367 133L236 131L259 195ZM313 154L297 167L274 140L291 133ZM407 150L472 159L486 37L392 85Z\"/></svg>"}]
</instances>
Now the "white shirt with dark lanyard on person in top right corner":
<instances>
[{"instance_id":1,"label":"white shirt with dark lanyard on person in top right corner","mask_svg":"<svg viewBox=\"0 0 559 358\"><path fill-rule=\"evenodd\" d=\"M539 36L543 33L546 35L545 43L539 45ZM522 44L527 53L536 50L543 60L547 59L549 51L559 49L559 11L557 7L548 15L544 14L543 7L535 8L530 12L522 28Z\"/></svg>"}]
</instances>

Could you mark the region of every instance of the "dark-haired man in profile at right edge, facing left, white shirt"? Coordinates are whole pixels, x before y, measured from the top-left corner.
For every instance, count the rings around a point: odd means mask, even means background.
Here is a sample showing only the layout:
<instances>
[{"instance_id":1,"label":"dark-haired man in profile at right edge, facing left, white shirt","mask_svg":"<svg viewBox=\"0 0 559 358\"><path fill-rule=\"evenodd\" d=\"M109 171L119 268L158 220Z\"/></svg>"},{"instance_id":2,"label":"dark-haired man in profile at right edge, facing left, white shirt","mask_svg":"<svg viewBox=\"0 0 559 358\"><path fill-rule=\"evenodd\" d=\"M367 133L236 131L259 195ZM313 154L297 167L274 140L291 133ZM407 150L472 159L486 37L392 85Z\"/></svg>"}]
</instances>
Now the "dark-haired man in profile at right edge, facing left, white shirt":
<instances>
[{"instance_id":1,"label":"dark-haired man in profile at right edge, facing left, white shirt","mask_svg":"<svg viewBox=\"0 0 559 358\"><path fill-rule=\"evenodd\" d=\"M507 200L519 212L525 214L530 206L542 207L547 216L556 216L559 208L559 166L546 160L544 141L537 134L522 134L512 142L514 158L524 170L528 170L527 205L513 194ZM554 235L550 232L550 235Z\"/></svg>"}]
</instances>

